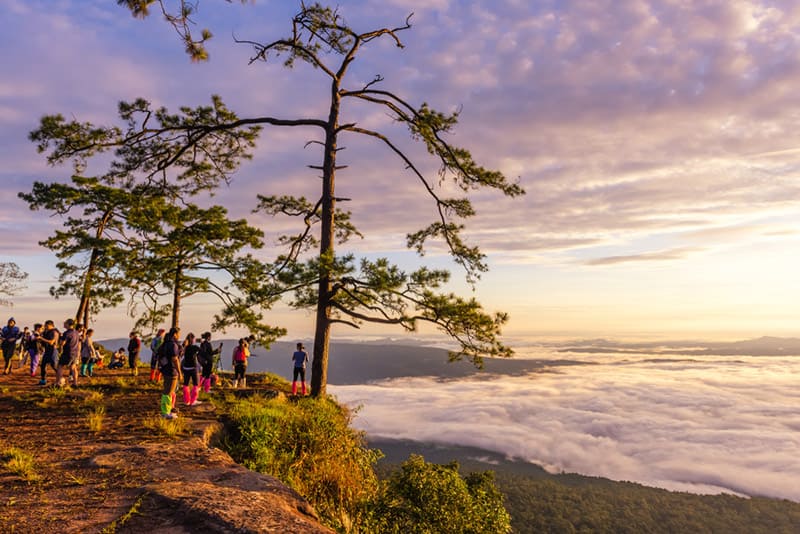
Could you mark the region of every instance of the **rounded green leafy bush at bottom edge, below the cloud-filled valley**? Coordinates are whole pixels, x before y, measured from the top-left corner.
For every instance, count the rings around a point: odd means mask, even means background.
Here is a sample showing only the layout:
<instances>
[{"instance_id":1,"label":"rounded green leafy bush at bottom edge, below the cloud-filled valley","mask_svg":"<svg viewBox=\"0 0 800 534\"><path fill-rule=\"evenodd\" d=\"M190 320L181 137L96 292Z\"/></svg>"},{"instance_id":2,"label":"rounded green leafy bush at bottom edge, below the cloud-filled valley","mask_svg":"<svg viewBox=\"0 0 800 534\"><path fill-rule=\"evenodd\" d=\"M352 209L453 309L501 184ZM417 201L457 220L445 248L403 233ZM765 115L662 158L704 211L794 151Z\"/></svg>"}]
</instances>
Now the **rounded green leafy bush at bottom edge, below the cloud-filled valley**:
<instances>
[{"instance_id":1,"label":"rounded green leafy bush at bottom edge, below the cloud-filled valley","mask_svg":"<svg viewBox=\"0 0 800 534\"><path fill-rule=\"evenodd\" d=\"M438 465L411 455L375 499L371 532L486 533L511 530L494 473L463 478L458 463Z\"/></svg>"}]
</instances>

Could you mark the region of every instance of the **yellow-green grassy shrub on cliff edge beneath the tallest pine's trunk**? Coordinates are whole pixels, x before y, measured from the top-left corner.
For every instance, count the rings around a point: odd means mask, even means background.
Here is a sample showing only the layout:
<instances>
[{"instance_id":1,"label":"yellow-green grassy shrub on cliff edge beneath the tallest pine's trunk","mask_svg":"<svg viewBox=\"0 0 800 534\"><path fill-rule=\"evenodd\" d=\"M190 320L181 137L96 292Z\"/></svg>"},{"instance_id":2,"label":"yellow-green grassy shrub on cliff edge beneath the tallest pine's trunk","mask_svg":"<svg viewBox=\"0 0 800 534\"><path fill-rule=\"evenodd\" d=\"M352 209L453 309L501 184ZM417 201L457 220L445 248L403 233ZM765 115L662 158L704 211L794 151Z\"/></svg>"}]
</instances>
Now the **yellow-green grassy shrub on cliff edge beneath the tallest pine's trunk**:
<instances>
[{"instance_id":1,"label":"yellow-green grassy shrub on cliff edge beneath the tallest pine's trunk","mask_svg":"<svg viewBox=\"0 0 800 534\"><path fill-rule=\"evenodd\" d=\"M350 427L351 417L329 399L253 396L230 404L223 446L237 462L303 495L329 526L364 531L380 452L366 447L364 434Z\"/></svg>"}]
</instances>

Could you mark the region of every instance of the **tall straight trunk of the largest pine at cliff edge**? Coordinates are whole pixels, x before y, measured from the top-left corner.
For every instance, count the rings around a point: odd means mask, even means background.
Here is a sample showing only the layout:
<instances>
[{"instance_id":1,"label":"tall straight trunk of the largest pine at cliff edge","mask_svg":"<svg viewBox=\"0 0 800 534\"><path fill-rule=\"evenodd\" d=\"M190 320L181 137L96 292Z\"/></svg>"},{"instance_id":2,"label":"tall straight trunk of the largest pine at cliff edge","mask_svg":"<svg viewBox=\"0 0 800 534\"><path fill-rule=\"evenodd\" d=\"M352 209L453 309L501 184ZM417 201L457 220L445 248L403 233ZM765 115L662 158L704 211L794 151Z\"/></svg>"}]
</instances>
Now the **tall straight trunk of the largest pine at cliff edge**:
<instances>
[{"instance_id":1,"label":"tall straight trunk of the largest pine at cliff edge","mask_svg":"<svg viewBox=\"0 0 800 534\"><path fill-rule=\"evenodd\" d=\"M317 315L314 329L314 360L311 362L311 395L324 397L328 385L328 348L331 337L331 276L328 262L334 255L334 185L336 178L336 129L339 123L339 83L331 87L331 110L325 130L325 155L322 163L322 213L320 213L321 260L319 287L317 292Z\"/></svg>"}]
</instances>

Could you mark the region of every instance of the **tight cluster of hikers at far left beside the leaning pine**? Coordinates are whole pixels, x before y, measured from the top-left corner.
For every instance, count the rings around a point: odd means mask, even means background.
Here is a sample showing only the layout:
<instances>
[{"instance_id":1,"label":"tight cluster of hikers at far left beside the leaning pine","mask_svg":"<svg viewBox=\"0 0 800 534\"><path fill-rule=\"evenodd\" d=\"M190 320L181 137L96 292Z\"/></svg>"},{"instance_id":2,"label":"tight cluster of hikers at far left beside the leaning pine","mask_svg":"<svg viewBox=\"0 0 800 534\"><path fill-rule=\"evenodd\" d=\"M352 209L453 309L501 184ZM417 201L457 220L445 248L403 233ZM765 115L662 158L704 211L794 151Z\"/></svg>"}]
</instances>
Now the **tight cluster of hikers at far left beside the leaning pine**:
<instances>
[{"instance_id":1,"label":"tight cluster of hikers at far left beside the leaning pine","mask_svg":"<svg viewBox=\"0 0 800 534\"><path fill-rule=\"evenodd\" d=\"M48 367L55 373L56 385L63 386L67 380L77 385L79 376L92 376L95 366L102 365L102 355L94 346L93 334L94 330L73 319L64 321L63 331L51 320L20 330L11 317L0 332L3 374L11 374L12 359L19 354L19 367L29 364L31 376L38 372L39 385L47 384Z\"/></svg>"}]
</instances>

